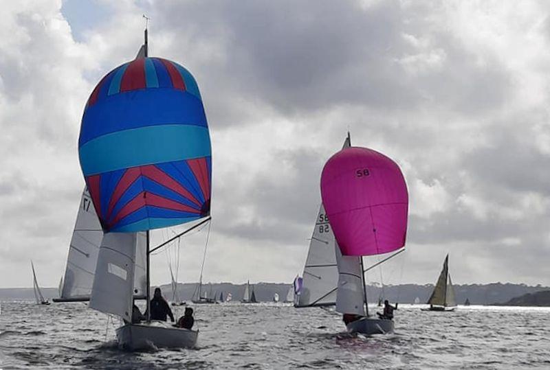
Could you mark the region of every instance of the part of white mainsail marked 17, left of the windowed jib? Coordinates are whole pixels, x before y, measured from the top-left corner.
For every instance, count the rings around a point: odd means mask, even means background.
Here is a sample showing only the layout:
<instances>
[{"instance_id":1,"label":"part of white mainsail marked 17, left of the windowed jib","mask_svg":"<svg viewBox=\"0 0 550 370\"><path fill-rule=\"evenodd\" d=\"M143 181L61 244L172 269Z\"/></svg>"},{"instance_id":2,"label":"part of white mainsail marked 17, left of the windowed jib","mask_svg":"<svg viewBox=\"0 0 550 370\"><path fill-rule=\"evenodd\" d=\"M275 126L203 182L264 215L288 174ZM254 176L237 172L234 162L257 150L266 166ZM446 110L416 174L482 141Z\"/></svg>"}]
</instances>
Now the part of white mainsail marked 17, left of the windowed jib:
<instances>
[{"instance_id":1,"label":"part of white mainsail marked 17, left of the windowed jib","mask_svg":"<svg viewBox=\"0 0 550 370\"><path fill-rule=\"evenodd\" d=\"M84 189L69 246L61 299L87 299L94 284L103 231L94 204Z\"/></svg>"}]
</instances>

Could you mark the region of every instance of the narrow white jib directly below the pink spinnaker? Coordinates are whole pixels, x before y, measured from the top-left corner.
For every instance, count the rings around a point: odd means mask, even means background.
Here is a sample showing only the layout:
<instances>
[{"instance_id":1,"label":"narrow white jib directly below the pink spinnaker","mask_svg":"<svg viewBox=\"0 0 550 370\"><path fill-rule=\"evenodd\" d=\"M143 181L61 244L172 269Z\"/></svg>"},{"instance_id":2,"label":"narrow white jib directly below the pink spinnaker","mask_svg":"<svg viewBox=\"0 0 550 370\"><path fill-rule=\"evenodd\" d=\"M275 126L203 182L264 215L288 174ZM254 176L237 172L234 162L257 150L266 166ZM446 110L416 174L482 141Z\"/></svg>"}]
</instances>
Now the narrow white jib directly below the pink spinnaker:
<instances>
[{"instance_id":1,"label":"narrow white jib directly below the pink spinnaker","mask_svg":"<svg viewBox=\"0 0 550 370\"><path fill-rule=\"evenodd\" d=\"M342 314L365 315L365 293L362 279L360 257L342 255L336 248L338 262L338 290L336 294L336 311Z\"/></svg>"}]
</instances>

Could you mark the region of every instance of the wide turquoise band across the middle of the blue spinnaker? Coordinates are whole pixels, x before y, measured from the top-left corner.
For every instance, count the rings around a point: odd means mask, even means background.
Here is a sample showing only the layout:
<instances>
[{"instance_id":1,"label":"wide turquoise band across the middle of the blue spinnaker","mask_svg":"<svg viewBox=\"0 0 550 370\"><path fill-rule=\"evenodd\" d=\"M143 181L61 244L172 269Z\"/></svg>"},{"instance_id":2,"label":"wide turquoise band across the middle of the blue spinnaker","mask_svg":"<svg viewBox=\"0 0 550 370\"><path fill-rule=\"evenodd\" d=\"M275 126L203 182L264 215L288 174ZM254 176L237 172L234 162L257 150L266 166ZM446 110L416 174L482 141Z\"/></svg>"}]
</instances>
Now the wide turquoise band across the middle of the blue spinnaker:
<instances>
[{"instance_id":1,"label":"wide turquoise band across the middle of the blue spinnaker","mask_svg":"<svg viewBox=\"0 0 550 370\"><path fill-rule=\"evenodd\" d=\"M208 157L210 153L208 128L181 124L113 132L88 141L79 150L85 176L138 165Z\"/></svg>"}]
</instances>

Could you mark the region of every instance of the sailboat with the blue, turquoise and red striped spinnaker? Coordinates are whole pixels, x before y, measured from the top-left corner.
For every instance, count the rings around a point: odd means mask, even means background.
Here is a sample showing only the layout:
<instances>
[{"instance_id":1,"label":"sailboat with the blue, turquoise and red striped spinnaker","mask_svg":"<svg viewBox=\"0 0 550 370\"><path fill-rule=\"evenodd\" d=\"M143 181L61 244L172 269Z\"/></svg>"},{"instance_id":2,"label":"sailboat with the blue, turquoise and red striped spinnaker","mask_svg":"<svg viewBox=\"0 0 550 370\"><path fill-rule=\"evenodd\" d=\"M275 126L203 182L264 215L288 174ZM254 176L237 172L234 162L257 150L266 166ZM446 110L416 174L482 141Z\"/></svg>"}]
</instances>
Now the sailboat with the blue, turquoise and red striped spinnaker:
<instances>
[{"instance_id":1,"label":"sailboat with the blue, turquoise and red striped spinnaker","mask_svg":"<svg viewBox=\"0 0 550 370\"><path fill-rule=\"evenodd\" d=\"M149 259L210 220L210 135L197 82L177 63L149 58L147 29L144 36L135 60L100 80L80 126L80 167L102 229L89 307L124 321L116 329L124 348L194 347L198 330L151 320ZM191 223L151 246L152 230ZM132 311L142 249L148 309L138 323Z\"/></svg>"}]
</instances>

